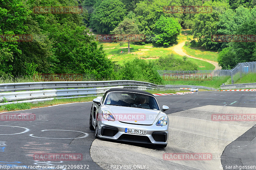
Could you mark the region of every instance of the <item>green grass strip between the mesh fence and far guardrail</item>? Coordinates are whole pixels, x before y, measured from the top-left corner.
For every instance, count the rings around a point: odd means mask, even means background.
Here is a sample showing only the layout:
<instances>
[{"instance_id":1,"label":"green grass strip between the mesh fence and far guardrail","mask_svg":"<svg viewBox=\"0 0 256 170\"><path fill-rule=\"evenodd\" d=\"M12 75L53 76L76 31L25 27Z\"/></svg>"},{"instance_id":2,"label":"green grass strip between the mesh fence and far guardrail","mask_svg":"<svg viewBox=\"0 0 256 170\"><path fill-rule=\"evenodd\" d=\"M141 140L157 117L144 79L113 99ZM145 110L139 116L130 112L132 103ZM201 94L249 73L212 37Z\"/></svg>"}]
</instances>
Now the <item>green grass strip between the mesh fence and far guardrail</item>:
<instances>
[{"instance_id":1,"label":"green grass strip between the mesh fence and far guardrail","mask_svg":"<svg viewBox=\"0 0 256 170\"><path fill-rule=\"evenodd\" d=\"M164 81L166 85L203 85L206 87L213 87L215 89L219 89L222 83L227 82L230 76L223 77L212 77L212 80L205 81L193 81L193 80L172 80L172 81Z\"/></svg>"}]
</instances>

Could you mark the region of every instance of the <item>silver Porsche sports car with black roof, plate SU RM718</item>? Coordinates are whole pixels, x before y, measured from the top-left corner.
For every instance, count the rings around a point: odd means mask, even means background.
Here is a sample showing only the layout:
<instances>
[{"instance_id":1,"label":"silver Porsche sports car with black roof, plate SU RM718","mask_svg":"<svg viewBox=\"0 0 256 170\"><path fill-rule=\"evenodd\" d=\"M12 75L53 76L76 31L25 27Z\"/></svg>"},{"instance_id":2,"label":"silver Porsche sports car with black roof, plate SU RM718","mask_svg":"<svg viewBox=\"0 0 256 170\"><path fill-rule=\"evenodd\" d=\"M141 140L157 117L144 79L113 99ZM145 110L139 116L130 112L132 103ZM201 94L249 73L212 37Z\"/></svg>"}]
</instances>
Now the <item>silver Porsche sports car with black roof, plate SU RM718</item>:
<instances>
[{"instance_id":1,"label":"silver Porsche sports car with black roof, plate SU RM718","mask_svg":"<svg viewBox=\"0 0 256 170\"><path fill-rule=\"evenodd\" d=\"M166 147L169 118L160 110L149 92L133 89L110 89L93 99L89 127L96 138L155 144Z\"/></svg>"}]
</instances>

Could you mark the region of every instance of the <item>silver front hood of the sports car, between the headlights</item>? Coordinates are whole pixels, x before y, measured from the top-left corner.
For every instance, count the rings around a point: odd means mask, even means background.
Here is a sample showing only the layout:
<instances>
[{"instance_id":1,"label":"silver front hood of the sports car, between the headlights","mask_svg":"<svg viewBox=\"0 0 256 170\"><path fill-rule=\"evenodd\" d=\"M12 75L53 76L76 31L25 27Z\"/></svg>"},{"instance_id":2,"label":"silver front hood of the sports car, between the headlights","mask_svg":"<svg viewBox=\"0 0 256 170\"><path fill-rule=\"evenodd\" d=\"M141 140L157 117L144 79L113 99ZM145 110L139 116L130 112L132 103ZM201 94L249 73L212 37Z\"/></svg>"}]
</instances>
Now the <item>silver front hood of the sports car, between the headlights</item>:
<instances>
[{"instance_id":1,"label":"silver front hood of the sports car, between the headlights","mask_svg":"<svg viewBox=\"0 0 256 170\"><path fill-rule=\"evenodd\" d=\"M106 106L106 105L105 105ZM106 106L115 120L124 123L152 125L160 110L151 110L136 107Z\"/></svg>"}]
</instances>

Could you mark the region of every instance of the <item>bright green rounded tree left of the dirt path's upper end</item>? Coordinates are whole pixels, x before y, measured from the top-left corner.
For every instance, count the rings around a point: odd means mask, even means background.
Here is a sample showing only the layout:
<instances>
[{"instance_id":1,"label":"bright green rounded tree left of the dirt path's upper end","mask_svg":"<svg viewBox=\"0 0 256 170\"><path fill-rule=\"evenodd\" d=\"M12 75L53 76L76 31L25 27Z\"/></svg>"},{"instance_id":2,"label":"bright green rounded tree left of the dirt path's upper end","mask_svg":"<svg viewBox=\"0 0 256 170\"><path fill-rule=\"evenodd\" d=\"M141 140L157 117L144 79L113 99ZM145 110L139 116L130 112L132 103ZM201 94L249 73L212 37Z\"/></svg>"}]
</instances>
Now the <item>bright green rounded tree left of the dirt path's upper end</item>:
<instances>
[{"instance_id":1,"label":"bright green rounded tree left of the dirt path's upper end","mask_svg":"<svg viewBox=\"0 0 256 170\"><path fill-rule=\"evenodd\" d=\"M153 42L158 45L169 46L177 40L181 26L176 19L164 17L163 15L156 21L153 30L155 37Z\"/></svg>"}]
</instances>

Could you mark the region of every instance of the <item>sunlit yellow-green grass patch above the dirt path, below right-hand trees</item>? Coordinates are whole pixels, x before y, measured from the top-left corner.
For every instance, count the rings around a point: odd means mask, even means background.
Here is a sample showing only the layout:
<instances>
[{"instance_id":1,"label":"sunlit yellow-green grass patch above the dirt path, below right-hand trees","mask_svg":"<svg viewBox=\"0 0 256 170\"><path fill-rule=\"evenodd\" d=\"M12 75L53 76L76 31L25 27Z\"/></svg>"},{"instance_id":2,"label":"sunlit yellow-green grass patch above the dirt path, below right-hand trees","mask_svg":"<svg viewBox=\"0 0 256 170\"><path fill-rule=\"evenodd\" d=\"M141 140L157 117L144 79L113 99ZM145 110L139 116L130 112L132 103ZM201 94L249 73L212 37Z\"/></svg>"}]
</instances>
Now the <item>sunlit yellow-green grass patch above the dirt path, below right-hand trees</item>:
<instances>
[{"instance_id":1,"label":"sunlit yellow-green grass patch above the dirt path, below right-hand trees","mask_svg":"<svg viewBox=\"0 0 256 170\"><path fill-rule=\"evenodd\" d=\"M182 49L184 49L185 53L187 53L188 55L191 55L197 58L215 61L215 62L217 62L217 58L219 55L218 52L207 51L204 48L198 48L198 47L188 47L184 45Z\"/></svg>"}]
</instances>

